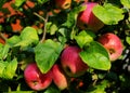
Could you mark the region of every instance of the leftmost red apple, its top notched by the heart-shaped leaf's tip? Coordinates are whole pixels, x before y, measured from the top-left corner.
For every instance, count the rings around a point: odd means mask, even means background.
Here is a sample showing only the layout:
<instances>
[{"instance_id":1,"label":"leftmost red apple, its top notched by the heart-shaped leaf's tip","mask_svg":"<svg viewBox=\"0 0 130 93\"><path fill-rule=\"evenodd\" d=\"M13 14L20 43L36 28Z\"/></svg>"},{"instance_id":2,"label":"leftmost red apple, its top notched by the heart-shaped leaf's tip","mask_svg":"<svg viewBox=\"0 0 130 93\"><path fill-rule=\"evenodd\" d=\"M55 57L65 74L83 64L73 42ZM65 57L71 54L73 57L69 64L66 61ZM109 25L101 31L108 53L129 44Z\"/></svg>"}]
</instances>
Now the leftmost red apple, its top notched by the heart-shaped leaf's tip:
<instances>
[{"instance_id":1,"label":"leftmost red apple, its top notched by the heart-shaped leaf's tip","mask_svg":"<svg viewBox=\"0 0 130 93\"><path fill-rule=\"evenodd\" d=\"M41 74L36 63L31 63L25 68L24 78L28 87L35 91L44 90L52 82L51 71Z\"/></svg>"}]
</instances>

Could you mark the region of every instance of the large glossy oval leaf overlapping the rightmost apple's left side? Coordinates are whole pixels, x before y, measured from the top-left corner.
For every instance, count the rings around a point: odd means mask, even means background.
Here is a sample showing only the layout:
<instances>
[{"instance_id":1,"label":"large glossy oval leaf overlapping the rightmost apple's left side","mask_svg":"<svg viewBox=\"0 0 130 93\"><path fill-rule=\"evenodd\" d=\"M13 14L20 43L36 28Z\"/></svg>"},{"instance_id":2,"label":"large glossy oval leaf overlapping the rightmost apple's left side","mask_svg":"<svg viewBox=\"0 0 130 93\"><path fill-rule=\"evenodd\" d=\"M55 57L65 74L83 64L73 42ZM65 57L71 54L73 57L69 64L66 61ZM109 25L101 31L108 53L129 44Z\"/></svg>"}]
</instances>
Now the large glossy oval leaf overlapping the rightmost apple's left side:
<instances>
[{"instance_id":1,"label":"large glossy oval leaf overlapping the rightmost apple's left side","mask_svg":"<svg viewBox=\"0 0 130 93\"><path fill-rule=\"evenodd\" d=\"M92 41L90 46L80 52L81 59L95 69L110 69L110 61L107 51L96 41Z\"/></svg>"}]
</instances>

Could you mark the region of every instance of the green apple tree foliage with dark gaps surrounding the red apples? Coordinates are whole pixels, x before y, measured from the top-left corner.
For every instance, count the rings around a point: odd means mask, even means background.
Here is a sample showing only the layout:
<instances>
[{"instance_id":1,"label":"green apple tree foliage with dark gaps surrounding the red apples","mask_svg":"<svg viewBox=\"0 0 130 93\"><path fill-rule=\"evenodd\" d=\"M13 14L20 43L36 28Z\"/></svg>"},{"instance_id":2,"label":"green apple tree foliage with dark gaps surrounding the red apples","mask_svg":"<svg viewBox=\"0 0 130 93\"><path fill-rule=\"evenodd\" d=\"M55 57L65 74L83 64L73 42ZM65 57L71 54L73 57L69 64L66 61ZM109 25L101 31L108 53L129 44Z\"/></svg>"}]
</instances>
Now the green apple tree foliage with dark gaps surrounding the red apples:
<instances>
[{"instance_id":1,"label":"green apple tree foliage with dark gaps surrounding the red apples","mask_svg":"<svg viewBox=\"0 0 130 93\"><path fill-rule=\"evenodd\" d=\"M13 10L22 15L11 15L2 8L10 0L0 0L0 12L4 22L0 23L0 91L34 93L24 81L25 67L36 62L42 74L48 72L66 45L82 49L81 59L89 66L87 72L72 81L68 89L60 91L53 83L41 93L109 93L130 91L130 69L123 69L126 53L110 62L107 51L96 40L105 32L116 34L123 43L123 51L130 46L130 0L88 0L100 3L93 9L94 15L105 25L98 32L81 30L77 17L86 6L83 0L73 0L72 8L56 10L54 0L29 0L35 6L25 9L27 0L15 0ZM41 12L41 14L39 13ZM13 30L11 24L21 21L22 29ZM32 26L36 26L34 28ZM40 25L43 25L40 27ZM9 38L3 37L9 35ZM130 55L127 55L130 57ZM127 62L128 63L128 62ZM130 59L129 59L130 63ZM80 87L80 82L83 85ZM13 87L12 87L13 85Z\"/></svg>"}]
</instances>

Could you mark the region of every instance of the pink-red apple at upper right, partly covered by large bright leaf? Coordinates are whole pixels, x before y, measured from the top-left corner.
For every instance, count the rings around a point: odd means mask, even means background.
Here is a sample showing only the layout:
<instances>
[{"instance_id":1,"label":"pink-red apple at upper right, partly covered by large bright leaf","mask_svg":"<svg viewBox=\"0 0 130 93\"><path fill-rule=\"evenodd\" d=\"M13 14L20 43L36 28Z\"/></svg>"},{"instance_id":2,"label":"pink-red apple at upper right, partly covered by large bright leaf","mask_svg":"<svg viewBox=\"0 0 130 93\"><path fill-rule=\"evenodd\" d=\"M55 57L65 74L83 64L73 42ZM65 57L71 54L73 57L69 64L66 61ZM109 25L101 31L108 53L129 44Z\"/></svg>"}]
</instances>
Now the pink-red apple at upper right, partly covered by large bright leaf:
<instances>
[{"instance_id":1,"label":"pink-red apple at upper right, partly covered by large bright leaf","mask_svg":"<svg viewBox=\"0 0 130 93\"><path fill-rule=\"evenodd\" d=\"M101 22L93 13L92 9L98 5L96 2L84 2L82 5L86 5L86 10L80 12L77 17L77 26L80 29L91 29L93 31L100 30L104 23Z\"/></svg>"}]
</instances>

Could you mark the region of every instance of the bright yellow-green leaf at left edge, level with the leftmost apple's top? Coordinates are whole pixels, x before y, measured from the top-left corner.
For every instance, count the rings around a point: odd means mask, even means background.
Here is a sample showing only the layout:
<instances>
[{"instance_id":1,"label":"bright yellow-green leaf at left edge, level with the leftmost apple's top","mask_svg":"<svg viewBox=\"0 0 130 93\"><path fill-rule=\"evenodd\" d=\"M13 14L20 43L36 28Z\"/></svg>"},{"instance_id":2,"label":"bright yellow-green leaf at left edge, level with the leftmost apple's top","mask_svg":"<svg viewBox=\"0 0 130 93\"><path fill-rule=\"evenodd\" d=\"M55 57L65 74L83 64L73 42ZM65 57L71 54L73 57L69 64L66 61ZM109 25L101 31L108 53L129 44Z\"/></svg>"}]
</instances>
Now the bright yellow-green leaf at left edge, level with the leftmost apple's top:
<instances>
[{"instance_id":1,"label":"bright yellow-green leaf at left edge, level with the leftmost apple's top","mask_svg":"<svg viewBox=\"0 0 130 93\"><path fill-rule=\"evenodd\" d=\"M4 79L12 79L15 76L17 68L17 61L14 58L11 62L1 62L0 63L1 71L0 77Z\"/></svg>"}]
</instances>

